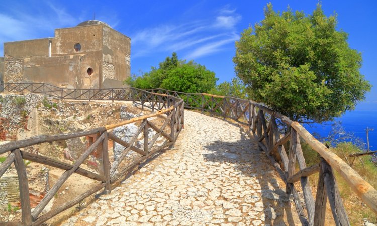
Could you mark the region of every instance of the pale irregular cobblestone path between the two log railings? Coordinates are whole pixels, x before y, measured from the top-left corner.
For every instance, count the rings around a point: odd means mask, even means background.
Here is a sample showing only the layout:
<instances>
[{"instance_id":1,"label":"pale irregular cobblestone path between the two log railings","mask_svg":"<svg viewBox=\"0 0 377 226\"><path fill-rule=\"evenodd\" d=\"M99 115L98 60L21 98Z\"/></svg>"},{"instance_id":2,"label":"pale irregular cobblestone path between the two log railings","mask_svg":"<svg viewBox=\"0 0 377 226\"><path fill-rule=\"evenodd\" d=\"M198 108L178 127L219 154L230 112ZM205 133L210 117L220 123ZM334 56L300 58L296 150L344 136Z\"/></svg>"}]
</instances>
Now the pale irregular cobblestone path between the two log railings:
<instances>
[{"instance_id":1,"label":"pale irregular cobblestone path between the two log railings","mask_svg":"<svg viewBox=\"0 0 377 226\"><path fill-rule=\"evenodd\" d=\"M295 225L294 204L243 129L185 111L174 150L63 225Z\"/></svg>"}]
</instances>

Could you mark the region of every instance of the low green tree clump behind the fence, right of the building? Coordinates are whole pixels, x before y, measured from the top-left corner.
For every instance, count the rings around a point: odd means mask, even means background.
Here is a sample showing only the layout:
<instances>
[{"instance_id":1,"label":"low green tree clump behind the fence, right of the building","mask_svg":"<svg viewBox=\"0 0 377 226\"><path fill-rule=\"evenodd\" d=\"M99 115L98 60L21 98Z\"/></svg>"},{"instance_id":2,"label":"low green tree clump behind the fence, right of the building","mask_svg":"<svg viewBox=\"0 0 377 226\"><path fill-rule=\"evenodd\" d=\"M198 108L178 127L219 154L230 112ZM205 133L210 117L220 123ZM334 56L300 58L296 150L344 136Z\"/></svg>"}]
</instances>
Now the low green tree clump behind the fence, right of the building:
<instances>
[{"instance_id":1,"label":"low green tree clump behind the fence, right of the building","mask_svg":"<svg viewBox=\"0 0 377 226\"><path fill-rule=\"evenodd\" d=\"M164 88L178 92L209 92L216 86L215 73L194 61L179 60L176 53L166 57L159 67L142 76L128 78L125 83L135 88Z\"/></svg>"}]
</instances>

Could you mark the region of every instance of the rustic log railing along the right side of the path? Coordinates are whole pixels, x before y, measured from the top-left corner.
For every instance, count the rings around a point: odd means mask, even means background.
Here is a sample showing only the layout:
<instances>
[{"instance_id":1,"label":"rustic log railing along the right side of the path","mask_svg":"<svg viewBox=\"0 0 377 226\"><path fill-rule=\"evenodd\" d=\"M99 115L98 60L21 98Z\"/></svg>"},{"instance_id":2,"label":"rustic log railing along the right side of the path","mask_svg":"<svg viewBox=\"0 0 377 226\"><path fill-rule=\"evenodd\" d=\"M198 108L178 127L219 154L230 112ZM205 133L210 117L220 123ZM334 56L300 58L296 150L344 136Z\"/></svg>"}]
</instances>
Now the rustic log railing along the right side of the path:
<instances>
[{"instance_id":1,"label":"rustic log railing along the right side of the path","mask_svg":"<svg viewBox=\"0 0 377 226\"><path fill-rule=\"evenodd\" d=\"M183 93L165 89L152 92L172 95L183 99L185 107L199 109L246 125L254 133L258 149L264 151L286 183L286 193L293 194L296 210L303 225L324 225L326 202L329 201L336 225L350 225L340 198L333 169L346 181L357 196L377 214L377 191L325 145L316 140L302 125L279 114L263 104L234 97L206 93ZM288 128L281 130L282 127ZM301 149L300 138L320 155L320 163L307 166ZM289 141L289 151L284 144ZM296 170L296 164L299 169ZM319 173L315 198L311 192L308 176ZM295 183L301 186L306 211L301 204Z\"/></svg>"}]
</instances>

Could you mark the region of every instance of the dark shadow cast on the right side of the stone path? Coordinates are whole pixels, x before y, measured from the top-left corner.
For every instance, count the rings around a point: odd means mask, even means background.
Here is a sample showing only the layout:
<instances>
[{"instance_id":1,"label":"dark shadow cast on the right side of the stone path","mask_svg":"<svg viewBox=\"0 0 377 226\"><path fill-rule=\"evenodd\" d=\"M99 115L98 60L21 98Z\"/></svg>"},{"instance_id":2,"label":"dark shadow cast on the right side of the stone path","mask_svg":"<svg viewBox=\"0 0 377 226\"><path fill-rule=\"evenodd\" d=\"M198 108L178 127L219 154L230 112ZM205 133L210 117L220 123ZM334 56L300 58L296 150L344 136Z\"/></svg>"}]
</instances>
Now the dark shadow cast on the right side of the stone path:
<instances>
[{"instance_id":1,"label":"dark shadow cast on the right side of the stone path","mask_svg":"<svg viewBox=\"0 0 377 226\"><path fill-rule=\"evenodd\" d=\"M243 129L240 128L240 132ZM242 133L244 134L244 133ZM254 138L247 138L241 135L241 140L235 142L215 141L205 148L210 151L204 154L207 161L218 163L231 163L236 174L250 177L256 183L250 185L251 192L261 197L263 206L255 206L254 209L263 208L265 214L264 224L266 225L295 225L297 213L292 209L293 203L281 189L284 183L277 180L269 160L264 152L258 152ZM228 200L230 201L230 200ZM260 200L257 200L259 202ZM260 209L259 209L260 210ZM251 210L249 214L256 213ZM296 214L296 215L293 215ZM262 215L262 214L261 214ZM263 217L262 217L263 218Z\"/></svg>"}]
</instances>

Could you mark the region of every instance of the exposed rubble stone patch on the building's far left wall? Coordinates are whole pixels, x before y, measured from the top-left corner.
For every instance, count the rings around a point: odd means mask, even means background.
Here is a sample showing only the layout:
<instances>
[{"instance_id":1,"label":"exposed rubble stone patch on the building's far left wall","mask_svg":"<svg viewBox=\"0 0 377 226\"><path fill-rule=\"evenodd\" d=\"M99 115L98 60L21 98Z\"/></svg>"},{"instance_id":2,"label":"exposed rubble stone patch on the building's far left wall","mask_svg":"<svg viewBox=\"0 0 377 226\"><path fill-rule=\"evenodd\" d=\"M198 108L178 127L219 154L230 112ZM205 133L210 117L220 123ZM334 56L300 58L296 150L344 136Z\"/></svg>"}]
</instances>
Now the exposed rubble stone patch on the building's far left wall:
<instances>
[{"instance_id":1,"label":"exposed rubble stone patch on the building's far left wall","mask_svg":"<svg viewBox=\"0 0 377 226\"><path fill-rule=\"evenodd\" d=\"M23 82L23 60L7 60L4 64L4 82Z\"/></svg>"}]
</instances>

